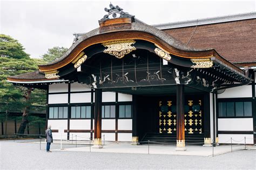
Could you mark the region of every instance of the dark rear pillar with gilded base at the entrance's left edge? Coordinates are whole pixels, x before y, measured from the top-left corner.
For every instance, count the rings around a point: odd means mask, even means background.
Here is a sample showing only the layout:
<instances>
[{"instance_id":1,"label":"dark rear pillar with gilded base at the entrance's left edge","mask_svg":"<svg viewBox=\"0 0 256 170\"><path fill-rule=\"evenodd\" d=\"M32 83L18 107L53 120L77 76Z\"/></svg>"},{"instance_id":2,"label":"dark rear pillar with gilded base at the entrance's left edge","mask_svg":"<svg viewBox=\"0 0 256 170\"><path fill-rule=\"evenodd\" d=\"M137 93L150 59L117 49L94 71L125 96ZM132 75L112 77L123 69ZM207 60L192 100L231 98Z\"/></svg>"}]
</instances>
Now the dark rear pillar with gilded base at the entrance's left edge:
<instances>
[{"instance_id":1,"label":"dark rear pillar with gilded base at the entrance's left edge","mask_svg":"<svg viewBox=\"0 0 256 170\"><path fill-rule=\"evenodd\" d=\"M132 95L132 145L139 144L138 134L138 96Z\"/></svg>"}]
</instances>

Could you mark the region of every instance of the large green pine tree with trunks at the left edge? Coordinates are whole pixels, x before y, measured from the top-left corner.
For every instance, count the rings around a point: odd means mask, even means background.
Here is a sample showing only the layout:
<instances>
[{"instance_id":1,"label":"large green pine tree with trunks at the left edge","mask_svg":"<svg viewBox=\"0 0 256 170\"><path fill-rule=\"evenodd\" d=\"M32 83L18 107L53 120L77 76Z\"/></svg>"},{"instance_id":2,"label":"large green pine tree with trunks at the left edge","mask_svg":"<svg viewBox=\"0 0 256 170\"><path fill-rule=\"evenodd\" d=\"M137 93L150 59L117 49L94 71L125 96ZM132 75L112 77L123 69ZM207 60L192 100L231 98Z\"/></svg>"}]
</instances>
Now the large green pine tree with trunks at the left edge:
<instances>
[{"instance_id":1,"label":"large green pine tree with trunks at the left edge","mask_svg":"<svg viewBox=\"0 0 256 170\"><path fill-rule=\"evenodd\" d=\"M0 103L4 103L1 111L5 111L0 119L5 121L5 134L9 110L22 110L22 126L19 132L24 133L29 120L31 105L45 105L45 91L26 87L16 87L7 82L7 77L38 70L37 65L45 63L42 59L32 59L24 51L18 40L0 35ZM33 92L32 92L33 91ZM31 93L32 92L32 93ZM31 96L32 95L32 96ZM24 129L23 129L24 128Z\"/></svg>"}]
</instances>

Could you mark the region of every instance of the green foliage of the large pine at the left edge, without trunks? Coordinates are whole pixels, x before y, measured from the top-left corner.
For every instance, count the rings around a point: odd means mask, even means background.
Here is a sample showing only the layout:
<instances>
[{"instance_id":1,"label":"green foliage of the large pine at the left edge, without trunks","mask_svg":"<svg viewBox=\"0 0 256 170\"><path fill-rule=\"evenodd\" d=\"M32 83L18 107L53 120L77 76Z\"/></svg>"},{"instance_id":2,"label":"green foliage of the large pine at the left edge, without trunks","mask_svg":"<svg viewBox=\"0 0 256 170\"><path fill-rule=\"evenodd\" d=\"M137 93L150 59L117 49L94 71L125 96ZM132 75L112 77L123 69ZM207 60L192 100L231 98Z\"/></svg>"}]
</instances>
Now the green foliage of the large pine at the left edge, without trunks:
<instances>
[{"instance_id":1,"label":"green foliage of the large pine at the left edge, without trunks","mask_svg":"<svg viewBox=\"0 0 256 170\"><path fill-rule=\"evenodd\" d=\"M0 35L0 103L8 103L8 110L24 107L25 87L16 87L7 82L7 77L38 70L37 65L44 64L42 59L29 58L18 40L10 36ZM31 104L45 105L45 91L34 90Z\"/></svg>"}]
</instances>

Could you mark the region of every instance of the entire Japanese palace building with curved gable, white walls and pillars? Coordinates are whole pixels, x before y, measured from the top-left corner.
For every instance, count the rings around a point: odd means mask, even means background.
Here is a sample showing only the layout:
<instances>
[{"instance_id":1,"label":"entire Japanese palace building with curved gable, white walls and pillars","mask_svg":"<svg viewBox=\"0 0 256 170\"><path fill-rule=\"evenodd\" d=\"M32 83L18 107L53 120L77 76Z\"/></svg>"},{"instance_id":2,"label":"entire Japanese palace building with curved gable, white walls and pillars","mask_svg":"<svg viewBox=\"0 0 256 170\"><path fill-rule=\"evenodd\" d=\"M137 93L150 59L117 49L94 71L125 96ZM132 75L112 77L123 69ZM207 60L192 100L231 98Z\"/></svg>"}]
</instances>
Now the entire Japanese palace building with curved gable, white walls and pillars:
<instances>
[{"instance_id":1,"label":"entire Japanese palace building with curved gable, white walls and pillars","mask_svg":"<svg viewBox=\"0 0 256 170\"><path fill-rule=\"evenodd\" d=\"M54 139L256 144L256 12L147 25L105 11L62 57L8 78L48 91Z\"/></svg>"}]
</instances>

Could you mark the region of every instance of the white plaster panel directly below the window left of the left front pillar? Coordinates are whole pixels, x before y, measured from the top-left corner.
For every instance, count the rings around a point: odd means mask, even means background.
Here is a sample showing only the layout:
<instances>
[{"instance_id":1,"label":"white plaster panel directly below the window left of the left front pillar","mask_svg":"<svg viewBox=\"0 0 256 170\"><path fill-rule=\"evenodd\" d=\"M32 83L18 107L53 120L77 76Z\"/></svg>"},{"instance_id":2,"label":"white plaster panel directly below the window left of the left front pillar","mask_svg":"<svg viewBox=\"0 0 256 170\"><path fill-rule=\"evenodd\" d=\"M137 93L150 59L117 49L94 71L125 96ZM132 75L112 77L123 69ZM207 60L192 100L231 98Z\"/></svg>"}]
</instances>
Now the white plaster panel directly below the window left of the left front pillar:
<instances>
[{"instance_id":1,"label":"white plaster panel directly below the window left of the left front pillar","mask_svg":"<svg viewBox=\"0 0 256 170\"><path fill-rule=\"evenodd\" d=\"M91 119L70 120L70 130L91 130Z\"/></svg>"}]
</instances>

